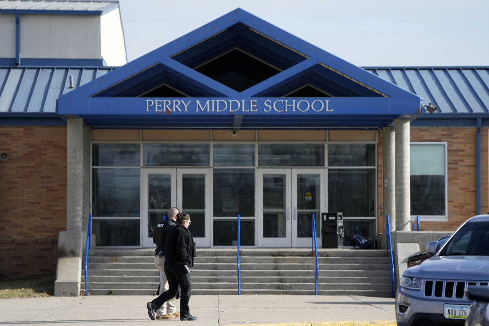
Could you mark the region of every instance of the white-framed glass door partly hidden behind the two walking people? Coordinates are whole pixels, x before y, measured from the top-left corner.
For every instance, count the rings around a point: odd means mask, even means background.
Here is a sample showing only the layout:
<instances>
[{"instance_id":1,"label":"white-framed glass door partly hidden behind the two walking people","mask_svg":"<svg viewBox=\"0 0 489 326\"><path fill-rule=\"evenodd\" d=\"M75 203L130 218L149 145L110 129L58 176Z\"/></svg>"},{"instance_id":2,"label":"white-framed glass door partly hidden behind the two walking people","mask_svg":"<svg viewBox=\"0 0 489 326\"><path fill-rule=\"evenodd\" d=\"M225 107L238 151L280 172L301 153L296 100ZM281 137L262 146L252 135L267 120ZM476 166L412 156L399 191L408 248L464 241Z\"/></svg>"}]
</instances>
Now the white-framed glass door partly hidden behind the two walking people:
<instances>
[{"instance_id":1,"label":"white-framed glass door partly hidden behind the two walking people","mask_svg":"<svg viewBox=\"0 0 489 326\"><path fill-rule=\"evenodd\" d=\"M197 247L210 247L211 169L178 169L177 207L190 214L188 228Z\"/></svg>"}]
</instances>

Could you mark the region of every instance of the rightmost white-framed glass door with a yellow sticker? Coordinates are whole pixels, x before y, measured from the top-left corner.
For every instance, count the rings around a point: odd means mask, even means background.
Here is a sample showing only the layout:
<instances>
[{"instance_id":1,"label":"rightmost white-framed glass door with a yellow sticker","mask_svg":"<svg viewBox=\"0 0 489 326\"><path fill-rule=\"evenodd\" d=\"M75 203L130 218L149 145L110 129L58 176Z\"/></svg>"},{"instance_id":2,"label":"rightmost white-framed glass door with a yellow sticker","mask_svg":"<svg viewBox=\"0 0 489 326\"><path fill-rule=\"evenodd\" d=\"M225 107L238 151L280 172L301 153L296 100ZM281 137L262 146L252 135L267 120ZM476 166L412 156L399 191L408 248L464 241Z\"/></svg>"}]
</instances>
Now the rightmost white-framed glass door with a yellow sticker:
<instances>
[{"instance_id":1,"label":"rightmost white-framed glass door with a yellow sticker","mask_svg":"<svg viewBox=\"0 0 489 326\"><path fill-rule=\"evenodd\" d=\"M312 245L312 215L316 240L321 247L321 211L325 211L323 169L292 169L292 247Z\"/></svg>"}]
</instances>

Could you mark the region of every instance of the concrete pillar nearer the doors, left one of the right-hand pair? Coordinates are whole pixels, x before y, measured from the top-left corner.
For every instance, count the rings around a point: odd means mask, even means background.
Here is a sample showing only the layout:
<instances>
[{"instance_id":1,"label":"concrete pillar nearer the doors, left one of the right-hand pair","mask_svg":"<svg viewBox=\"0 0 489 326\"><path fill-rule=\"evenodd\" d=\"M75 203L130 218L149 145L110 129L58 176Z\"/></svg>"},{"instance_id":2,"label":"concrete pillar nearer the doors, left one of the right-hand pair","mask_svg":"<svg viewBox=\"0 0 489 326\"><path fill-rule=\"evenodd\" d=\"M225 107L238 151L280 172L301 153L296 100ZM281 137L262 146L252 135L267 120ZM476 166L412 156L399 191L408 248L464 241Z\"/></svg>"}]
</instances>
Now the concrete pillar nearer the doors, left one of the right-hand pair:
<instances>
[{"instance_id":1,"label":"concrete pillar nearer the doors, left one of the right-hand pair","mask_svg":"<svg viewBox=\"0 0 489 326\"><path fill-rule=\"evenodd\" d=\"M394 232L396 230L396 146L394 137L394 127L385 127L382 129L384 216L389 214L391 232Z\"/></svg>"}]
</instances>

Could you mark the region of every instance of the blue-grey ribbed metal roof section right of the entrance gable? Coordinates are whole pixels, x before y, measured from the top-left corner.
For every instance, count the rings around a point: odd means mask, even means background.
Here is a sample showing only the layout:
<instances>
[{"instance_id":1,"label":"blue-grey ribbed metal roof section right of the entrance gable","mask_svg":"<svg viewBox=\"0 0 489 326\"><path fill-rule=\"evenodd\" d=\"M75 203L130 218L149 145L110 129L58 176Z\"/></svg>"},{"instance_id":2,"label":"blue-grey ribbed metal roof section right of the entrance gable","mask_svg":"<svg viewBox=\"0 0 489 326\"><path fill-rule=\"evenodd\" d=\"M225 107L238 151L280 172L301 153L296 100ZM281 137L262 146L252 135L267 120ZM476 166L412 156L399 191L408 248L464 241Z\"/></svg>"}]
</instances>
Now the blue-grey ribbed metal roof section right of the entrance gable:
<instances>
[{"instance_id":1,"label":"blue-grey ribbed metal roof section right of the entrance gable","mask_svg":"<svg viewBox=\"0 0 489 326\"><path fill-rule=\"evenodd\" d=\"M439 107L436 113L489 112L489 67L366 67ZM423 112L426 111L423 108Z\"/></svg>"}]
</instances>

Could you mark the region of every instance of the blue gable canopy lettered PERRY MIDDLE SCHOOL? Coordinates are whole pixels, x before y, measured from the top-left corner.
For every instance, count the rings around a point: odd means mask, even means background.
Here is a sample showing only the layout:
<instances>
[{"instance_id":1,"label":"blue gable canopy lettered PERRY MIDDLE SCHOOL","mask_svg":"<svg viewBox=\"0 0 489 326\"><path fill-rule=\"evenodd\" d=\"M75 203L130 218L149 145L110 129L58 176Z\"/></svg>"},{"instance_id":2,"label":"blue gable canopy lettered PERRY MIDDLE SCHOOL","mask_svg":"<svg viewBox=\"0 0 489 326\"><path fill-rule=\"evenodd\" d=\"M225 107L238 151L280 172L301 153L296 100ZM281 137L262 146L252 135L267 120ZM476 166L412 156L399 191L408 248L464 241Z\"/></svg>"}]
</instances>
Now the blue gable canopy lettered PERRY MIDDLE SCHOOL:
<instances>
[{"instance_id":1,"label":"blue gable canopy lettered PERRY MIDDLE SCHOOL","mask_svg":"<svg viewBox=\"0 0 489 326\"><path fill-rule=\"evenodd\" d=\"M372 128L421 98L236 9L58 99L93 127Z\"/></svg>"}]
</instances>

